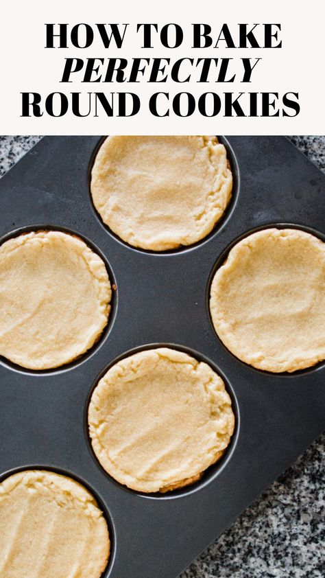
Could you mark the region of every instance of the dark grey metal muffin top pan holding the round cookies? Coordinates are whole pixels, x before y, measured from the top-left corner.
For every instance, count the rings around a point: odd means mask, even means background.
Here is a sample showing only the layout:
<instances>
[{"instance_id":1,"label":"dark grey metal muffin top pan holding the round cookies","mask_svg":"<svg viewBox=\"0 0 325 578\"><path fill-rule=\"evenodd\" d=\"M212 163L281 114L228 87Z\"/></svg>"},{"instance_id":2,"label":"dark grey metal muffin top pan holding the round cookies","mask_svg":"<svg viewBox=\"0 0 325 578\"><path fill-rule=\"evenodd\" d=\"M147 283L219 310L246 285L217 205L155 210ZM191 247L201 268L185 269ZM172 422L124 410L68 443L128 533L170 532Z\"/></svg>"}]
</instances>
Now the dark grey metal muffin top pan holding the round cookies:
<instances>
[{"instance_id":1,"label":"dark grey metal muffin top pan holding the round cookies","mask_svg":"<svg viewBox=\"0 0 325 578\"><path fill-rule=\"evenodd\" d=\"M325 363L291 374L245 365L215 334L208 296L217 266L253 231L296 227L324 240L325 177L285 137L219 140L234 176L224 218L201 242L165 253L128 246L97 215L89 182L99 137L45 137L0 181L0 242L40 229L75 233L104 259L114 288L108 327L75 362L32 371L0 358L0 481L41 468L88 487L110 528L105 578L178 577L324 428ZM236 426L199 482L140 494L101 468L86 416L113 362L160 346L221 375Z\"/></svg>"}]
</instances>

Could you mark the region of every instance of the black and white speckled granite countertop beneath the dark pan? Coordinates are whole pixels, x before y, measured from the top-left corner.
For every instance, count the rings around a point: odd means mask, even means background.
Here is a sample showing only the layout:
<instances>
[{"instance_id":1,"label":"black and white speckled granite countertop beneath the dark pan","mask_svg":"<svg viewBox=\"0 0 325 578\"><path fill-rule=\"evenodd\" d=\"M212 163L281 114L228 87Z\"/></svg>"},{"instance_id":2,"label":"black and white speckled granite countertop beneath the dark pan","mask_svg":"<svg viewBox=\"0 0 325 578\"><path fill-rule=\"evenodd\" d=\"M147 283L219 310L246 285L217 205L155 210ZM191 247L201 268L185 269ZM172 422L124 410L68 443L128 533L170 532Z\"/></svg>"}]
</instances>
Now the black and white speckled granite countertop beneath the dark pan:
<instances>
[{"instance_id":1,"label":"black and white speckled granite countertop beneath the dark pan","mask_svg":"<svg viewBox=\"0 0 325 578\"><path fill-rule=\"evenodd\" d=\"M0 137L0 176L39 138ZM325 172L325 136L291 140ZM324 490L325 435L180 578L323 578Z\"/></svg>"}]
</instances>

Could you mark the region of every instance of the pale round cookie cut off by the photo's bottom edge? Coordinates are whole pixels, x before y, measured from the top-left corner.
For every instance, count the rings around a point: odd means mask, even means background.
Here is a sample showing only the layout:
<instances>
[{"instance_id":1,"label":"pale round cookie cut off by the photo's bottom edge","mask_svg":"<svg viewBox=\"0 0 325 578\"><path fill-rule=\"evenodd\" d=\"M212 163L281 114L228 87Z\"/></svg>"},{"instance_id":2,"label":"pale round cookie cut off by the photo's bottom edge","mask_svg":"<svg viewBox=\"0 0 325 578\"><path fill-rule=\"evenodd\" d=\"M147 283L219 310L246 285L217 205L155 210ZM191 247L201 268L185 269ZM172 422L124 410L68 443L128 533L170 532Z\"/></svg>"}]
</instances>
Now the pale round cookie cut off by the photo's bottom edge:
<instances>
[{"instance_id":1,"label":"pale round cookie cut off by the photo's bottom edge","mask_svg":"<svg viewBox=\"0 0 325 578\"><path fill-rule=\"evenodd\" d=\"M1 578L99 578L110 538L95 498L71 478L41 470L0 484Z\"/></svg>"}]
</instances>

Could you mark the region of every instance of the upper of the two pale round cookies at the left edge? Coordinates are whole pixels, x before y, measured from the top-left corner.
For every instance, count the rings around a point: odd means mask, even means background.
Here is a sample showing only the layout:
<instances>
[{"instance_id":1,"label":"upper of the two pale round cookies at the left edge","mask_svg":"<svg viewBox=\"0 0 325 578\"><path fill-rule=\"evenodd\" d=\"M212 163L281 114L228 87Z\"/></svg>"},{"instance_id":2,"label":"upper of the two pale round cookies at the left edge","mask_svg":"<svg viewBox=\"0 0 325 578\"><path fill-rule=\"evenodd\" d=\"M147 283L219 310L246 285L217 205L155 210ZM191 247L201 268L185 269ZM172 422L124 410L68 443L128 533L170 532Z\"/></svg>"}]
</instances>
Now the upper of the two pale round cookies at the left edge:
<instances>
[{"instance_id":1,"label":"upper of the two pale round cookies at the left edge","mask_svg":"<svg viewBox=\"0 0 325 578\"><path fill-rule=\"evenodd\" d=\"M104 262L75 235L26 233L0 246L0 355L28 369L69 363L108 323Z\"/></svg>"}]
</instances>

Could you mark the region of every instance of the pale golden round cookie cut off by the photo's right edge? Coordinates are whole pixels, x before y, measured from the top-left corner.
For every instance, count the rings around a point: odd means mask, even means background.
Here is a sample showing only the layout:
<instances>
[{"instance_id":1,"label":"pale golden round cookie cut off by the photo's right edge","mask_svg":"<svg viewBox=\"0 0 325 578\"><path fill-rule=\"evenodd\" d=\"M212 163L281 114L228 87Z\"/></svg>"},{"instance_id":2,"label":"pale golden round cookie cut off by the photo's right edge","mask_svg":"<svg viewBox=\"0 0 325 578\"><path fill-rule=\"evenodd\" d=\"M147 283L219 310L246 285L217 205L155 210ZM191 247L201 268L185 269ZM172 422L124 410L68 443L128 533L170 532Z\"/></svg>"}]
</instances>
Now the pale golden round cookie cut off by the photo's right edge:
<instances>
[{"instance_id":1,"label":"pale golden round cookie cut off by the photo's right edge","mask_svg":"<svg viewBox=\"0 0 325 578\"><path fill-rule=\"evenodd\" d=\"M238 242L215 273L213 325L242 361L296 371L325 358L325 244L298 229L265 229Z\"/></svg>"}]
</instances>

